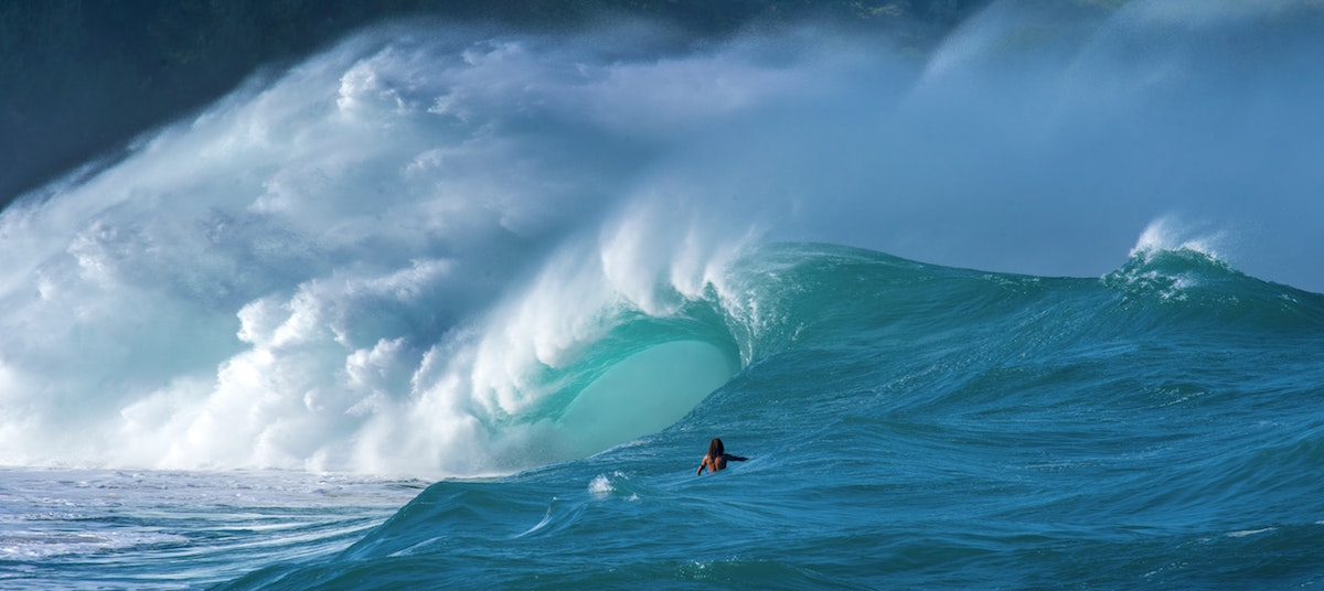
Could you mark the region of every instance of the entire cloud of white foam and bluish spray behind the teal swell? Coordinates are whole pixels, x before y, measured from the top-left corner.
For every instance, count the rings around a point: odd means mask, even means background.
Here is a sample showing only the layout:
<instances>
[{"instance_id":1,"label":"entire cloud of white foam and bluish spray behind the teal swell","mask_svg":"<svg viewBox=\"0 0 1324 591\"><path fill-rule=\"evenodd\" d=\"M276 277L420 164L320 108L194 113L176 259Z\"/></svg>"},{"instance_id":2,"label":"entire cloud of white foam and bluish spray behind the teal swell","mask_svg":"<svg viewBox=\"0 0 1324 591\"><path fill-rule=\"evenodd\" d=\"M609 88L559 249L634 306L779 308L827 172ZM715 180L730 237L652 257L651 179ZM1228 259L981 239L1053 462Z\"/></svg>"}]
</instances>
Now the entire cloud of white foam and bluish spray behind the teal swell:
<instances>
[{"instance_id":1,"label":"entire cloud of white foam and bluish spray behind the teal swell","mask_svg":"<svg viewBox=\"0 0 1324 591\"><path fill-rule=\"evenodd\" d=\"M0 463L589 453L628 434L540 422L540 375L609 311L722 294L765 241L1100 276L1144 233L1324 291L1321 24L1009 3L923 56L809 24L694 46L629 22L367 30L4 212ZM700 395L736 369L667 354L706 368Z\"/></svg>"}]
</instances>

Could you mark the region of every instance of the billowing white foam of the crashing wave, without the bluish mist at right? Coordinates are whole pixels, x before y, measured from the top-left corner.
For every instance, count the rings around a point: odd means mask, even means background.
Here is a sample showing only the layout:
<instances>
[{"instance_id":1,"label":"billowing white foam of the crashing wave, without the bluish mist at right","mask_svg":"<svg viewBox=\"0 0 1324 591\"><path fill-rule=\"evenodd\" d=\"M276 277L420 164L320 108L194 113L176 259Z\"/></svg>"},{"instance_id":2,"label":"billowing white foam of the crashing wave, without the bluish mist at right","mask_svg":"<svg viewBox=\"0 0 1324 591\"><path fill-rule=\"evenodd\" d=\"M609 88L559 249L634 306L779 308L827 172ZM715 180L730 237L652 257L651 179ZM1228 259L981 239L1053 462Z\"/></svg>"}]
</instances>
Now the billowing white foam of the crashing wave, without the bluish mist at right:
<instances>
[{"instance_id":1,"label":"billowing white foam of the crashing wave, without the bluish mist at right","mask_svg":"<svg viewBox=\"0 0 1324 591\"><path fill-rule=\"evenodd\" d=\"M604 311L667 315L737 246L634 196L620 155L802 73L428 33L352 40L5 214L25 337L0 461L473 475L596 451L494 423L557 387L539 373ZM490 465L503 444L551 451Z\"/></svg>"}]
</instances>

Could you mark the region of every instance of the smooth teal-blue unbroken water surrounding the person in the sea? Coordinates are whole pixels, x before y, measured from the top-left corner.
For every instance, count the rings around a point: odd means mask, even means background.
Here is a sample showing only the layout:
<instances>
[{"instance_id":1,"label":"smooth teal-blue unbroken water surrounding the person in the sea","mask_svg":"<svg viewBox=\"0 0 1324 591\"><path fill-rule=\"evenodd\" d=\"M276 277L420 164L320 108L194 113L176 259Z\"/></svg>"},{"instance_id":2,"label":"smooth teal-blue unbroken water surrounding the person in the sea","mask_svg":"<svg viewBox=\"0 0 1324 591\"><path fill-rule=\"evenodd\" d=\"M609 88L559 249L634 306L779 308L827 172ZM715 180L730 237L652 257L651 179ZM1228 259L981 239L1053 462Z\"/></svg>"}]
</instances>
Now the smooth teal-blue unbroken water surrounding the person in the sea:
<instances>
[{"instance_id":1,"label":"smooth teal-blue unbroken water surrounding the person in the sea","mask_svg":"<svg viewBox=\"0 0 1324 591\"><path fill-rule=\"evenodd\" d=\"M1190 250L1102 279L831 246L740 268L735 308L760 312L708 328L749 364L674 426L437 483L340 553L222 588L1324 580L1324 297ZM711 436L749 461L696 477Z\"/></svg>"}]
</instances>

